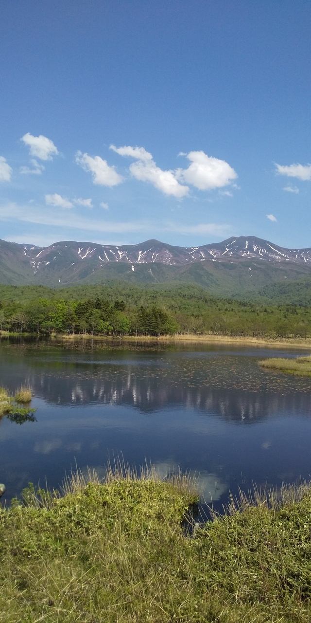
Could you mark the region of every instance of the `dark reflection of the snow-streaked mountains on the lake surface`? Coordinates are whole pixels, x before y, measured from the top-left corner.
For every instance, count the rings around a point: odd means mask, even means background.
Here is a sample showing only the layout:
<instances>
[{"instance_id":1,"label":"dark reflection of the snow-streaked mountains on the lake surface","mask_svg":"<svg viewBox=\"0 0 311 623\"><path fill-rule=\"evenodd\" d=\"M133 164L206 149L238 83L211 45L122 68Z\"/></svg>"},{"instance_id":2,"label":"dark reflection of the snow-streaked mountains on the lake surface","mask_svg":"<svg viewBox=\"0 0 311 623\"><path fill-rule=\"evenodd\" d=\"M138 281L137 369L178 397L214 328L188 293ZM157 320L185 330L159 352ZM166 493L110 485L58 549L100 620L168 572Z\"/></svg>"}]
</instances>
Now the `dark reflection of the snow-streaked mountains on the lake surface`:
<instances>
[{"instance_id":1,"label":"dark reflection of the snow-streaked mountains on the lake surface","mask_svg":"<svg viewBox=\"0 0 311 623\"><path fill-rule=\"evenodd\" d=\"M110 375L111 376L111 375ZM115 371L114 378L75 374L41 374L30 381L35 393L53 404L118 404L148 413L167 407L187 407L226 420L252 422L288 412L311 415L310 395L300 392L282 395L238 389L185 387L170 378L139 377L131 371Z\"/></svg>"}]
</instances>

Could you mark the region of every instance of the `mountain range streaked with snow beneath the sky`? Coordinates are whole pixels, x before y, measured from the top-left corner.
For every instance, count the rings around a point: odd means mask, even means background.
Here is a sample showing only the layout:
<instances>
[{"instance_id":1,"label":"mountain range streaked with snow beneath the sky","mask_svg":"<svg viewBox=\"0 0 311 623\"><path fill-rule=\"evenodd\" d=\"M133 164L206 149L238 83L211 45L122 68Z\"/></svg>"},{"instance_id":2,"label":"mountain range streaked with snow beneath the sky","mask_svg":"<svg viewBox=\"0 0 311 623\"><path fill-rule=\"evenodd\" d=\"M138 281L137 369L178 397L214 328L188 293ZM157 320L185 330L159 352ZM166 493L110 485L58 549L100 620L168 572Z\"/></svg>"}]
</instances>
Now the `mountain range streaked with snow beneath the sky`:
<instances>
[{"instance_id":1,"label":"mountain range streaked with snow beneath the sky","mask_svg":"<svg viewBox=\"0 0 311 623\"><path fill-rule=\"evenodd\" d=\"M183 282L231 297L309 275L311 248L285 249L255 236L200 247L159 240L118 246L64 241L37 247L0 240L0 283L8 285Z\"/></svg>"}]
</instances>

